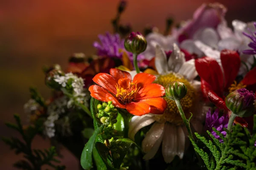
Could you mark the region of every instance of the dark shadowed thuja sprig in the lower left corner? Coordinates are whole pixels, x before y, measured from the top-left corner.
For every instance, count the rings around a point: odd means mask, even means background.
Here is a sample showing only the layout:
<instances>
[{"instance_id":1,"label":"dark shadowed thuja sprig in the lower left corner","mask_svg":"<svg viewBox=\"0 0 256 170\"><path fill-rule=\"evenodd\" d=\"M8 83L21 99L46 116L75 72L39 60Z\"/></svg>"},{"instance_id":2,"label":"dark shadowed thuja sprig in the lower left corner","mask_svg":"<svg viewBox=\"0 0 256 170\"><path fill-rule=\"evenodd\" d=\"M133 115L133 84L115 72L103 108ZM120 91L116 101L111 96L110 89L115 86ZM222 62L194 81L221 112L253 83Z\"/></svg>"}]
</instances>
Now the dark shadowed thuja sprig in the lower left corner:
<instances>
[{"instance_id":1,"label":"dark shadowed thuja sprig in the lower left corner","mask_svg":"<svg viewBox=\"0 0 256 170\"><path fill-rule=\"evenodd\" d=\"M43 130L43 121L38 119L34 126L29 126L24 129L20 122L20 117L14 115L14 118L16 124L6 123L6 126L20 133L23 141L16 137L2 138L11 149L15 150L16 154L23 153L24 158L26 158L26 160L17 161L14 166L23 170L41 170L42 166L47 164L55 170L64 170L64 166L56 166L52 164L53 162L60 163L60 161L56 159L57 153L54 147L50 147L49 150L45 149L44 151L32 149L31 147L35 135L41 133Z\"/></svg>"}]
</instances>

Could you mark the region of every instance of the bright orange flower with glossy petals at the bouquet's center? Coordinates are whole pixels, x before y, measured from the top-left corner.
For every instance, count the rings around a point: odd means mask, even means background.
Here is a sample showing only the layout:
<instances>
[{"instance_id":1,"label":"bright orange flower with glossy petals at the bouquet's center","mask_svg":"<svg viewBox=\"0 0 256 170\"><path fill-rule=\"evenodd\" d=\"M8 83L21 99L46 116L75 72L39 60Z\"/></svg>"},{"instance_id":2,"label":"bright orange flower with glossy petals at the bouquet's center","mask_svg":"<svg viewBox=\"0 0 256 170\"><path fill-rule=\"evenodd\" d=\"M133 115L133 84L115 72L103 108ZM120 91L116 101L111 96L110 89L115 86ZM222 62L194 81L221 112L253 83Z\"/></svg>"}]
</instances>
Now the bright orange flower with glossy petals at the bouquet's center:
<instances>
[{"instance_id":1,"label":"bright orange flower with glossy petals at the bouquet's center","mask_svg":"<svg viewBox=\"0 0 256 170\"><path fill-rule=\"evenodd\" d=\"M112 101L115 107L127 109L133 115L161 114L167 107L161 98L165 89L160 84L152 84L155 78L154 75L139 73L132 81L128 72L110 69L110 75L99 73L94 76L93 81L98 85L90 86L89 91L93 98Z\"/></svg>"}]
</instances>

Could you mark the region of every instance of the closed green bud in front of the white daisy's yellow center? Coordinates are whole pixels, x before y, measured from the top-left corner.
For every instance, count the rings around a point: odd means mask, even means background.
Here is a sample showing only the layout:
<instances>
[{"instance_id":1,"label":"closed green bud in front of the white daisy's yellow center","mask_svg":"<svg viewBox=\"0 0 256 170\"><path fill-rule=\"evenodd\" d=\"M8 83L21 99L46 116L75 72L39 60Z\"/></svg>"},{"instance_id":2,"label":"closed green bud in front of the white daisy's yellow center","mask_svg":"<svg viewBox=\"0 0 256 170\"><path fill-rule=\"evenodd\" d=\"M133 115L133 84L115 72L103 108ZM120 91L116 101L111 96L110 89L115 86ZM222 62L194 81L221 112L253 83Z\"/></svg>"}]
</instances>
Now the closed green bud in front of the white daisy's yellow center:
<instances>
[{"instance_id":1,"label":"closed green bud in front of the white daisy's yellow center","mask_svg":"<svg viewBox=\"0 0 256 170\"><path fill-rule=\"evenodd\" d=\"M172 100L180 100L183 97L185 97L187 88L186 85L173 81L172 83L169 83L166 85L166 97Z\"/></svg>"}]
</instances>

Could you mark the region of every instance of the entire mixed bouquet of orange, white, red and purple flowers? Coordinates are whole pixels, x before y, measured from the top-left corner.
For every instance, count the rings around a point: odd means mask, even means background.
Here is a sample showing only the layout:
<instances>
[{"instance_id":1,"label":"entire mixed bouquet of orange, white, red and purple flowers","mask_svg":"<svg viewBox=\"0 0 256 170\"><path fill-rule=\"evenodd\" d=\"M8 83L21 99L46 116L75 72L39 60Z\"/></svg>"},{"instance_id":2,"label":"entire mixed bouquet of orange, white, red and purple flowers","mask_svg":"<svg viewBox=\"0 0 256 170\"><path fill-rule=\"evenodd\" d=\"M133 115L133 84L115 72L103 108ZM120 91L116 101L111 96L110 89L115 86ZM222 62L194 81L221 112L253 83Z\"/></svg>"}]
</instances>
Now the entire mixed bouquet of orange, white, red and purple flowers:
<instances>
[{"instance_id":1,"label":"entire mixed bouquet of orange, white, red and purple flowers","mask_svg":"<svg viewBox=\"0 0 256 170\"><path fill-rule=\"evenodd\" d=\"M224 18L227 9L203 4L193 18L160 34L131 32L112 20L97 54L75 53L62 70L44 68L52 97L34 88L24 105L29 125L6 125L23 138L3 138L26 160L15 167L65 169L64 145L89 170L256 170L256 23ZM49 150L32 149L36 134Z\"/></svg>"}]
</instances>

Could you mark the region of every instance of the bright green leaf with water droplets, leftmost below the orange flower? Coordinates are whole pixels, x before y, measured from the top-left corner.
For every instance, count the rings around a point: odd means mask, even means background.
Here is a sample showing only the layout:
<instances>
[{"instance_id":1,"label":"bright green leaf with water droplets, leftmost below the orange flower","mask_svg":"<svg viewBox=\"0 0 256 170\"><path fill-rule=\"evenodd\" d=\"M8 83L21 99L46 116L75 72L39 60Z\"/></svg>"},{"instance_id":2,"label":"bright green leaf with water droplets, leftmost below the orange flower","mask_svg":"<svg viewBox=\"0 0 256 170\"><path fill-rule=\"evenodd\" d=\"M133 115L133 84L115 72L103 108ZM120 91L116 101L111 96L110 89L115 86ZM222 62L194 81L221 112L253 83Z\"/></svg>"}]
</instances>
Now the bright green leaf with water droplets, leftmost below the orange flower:
<instances>
[{"instance_id":1,"label":"bright green leaf with water droplets, leftmost below the orange flower","mask_svg":"<svg viewBox=\"0 0 256 170\"><path fill-rule=\"evenodd\" d=\"M104 125L101 127L98 127L93 135L90 137L89 141L87 144L84 146L84 150L81 154L81 166L85 169L88 170L93 167L93 158L92 158L92 152L93 152L93 146L95 143L95 140L97 138L97 135L101 133Z\"/></svg>"}]
</instances>

